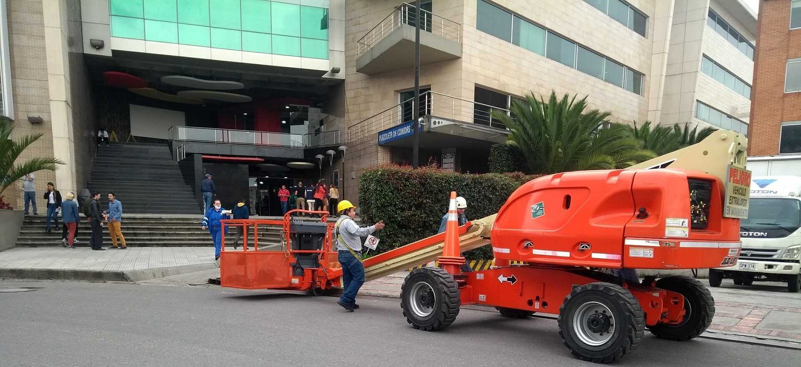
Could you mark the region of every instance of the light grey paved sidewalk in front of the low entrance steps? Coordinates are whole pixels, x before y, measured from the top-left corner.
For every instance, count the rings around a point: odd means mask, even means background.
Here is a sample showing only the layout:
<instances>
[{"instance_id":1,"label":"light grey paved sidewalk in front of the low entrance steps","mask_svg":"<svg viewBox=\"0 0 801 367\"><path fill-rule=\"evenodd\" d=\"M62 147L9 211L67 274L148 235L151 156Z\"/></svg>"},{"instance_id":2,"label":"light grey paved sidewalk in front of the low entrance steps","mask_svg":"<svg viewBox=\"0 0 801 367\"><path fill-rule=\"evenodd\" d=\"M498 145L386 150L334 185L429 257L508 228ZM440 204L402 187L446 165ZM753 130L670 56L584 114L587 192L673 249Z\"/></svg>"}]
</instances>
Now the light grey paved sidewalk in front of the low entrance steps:
<instances>
[{"instance_id":1,"label":"light grey paved sidewalk in front of the low entrance steps","mask_svg":"<svg viewBox=\"0 0 801 367\"><path fill-rule=\"evenodd\" d=\"M215 268L214 248L11 248L0 278L137 281Z\"/></svg>"}]
</instances>

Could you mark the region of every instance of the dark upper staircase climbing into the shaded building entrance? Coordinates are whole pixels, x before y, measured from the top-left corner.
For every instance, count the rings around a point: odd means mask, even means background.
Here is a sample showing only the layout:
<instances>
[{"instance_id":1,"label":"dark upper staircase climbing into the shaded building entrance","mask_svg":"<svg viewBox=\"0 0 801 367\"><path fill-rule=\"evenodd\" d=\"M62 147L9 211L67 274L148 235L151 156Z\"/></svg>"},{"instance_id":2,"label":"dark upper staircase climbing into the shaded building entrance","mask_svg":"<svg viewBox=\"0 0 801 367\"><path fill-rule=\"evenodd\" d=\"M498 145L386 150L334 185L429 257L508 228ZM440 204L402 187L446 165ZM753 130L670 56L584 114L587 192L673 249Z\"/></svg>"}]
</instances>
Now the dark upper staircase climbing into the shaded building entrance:
<instances>
[{"instance_id":1,"label":"dark upper staircase climbing into the shaded building entrance","mask_svg":"<svg viewBox=\"0 0 801 367\"><path fill-rule=\"evenodd\" d=\"M111 143L98 147L90 191L114 192L126 214L201 214L202 204L181 175L166 144Z\"/></svg>"}]
</instances>

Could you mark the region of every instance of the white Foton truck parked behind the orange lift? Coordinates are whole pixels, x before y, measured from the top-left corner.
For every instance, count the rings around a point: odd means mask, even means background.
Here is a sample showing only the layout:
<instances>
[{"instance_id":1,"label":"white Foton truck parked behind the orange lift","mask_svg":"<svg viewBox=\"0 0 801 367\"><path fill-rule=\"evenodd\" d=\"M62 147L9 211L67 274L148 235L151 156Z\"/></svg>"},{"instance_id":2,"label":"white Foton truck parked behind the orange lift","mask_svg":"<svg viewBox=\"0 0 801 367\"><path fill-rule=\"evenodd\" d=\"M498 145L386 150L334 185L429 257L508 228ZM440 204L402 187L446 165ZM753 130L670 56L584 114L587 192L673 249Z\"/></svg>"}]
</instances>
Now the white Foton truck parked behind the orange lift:
<instances>
[{"instance_id":1,"label":"white Foton truck parked behind the orange lift","mask_svg":"<svg viewBox=\"0 0 801 367\"><path fill-rule=\"evenodd\" d=\"M734 267L710 269L710 286L720 286L723 278L731 278L737 285L751 285L755 280L782 281L787 282L788 291L799 292L801 177L770 174L801 173L801 156L781 158L748 158L747 167L754 176L748 218L740 220L743 248Z\"/></svg>"}]
</instances>

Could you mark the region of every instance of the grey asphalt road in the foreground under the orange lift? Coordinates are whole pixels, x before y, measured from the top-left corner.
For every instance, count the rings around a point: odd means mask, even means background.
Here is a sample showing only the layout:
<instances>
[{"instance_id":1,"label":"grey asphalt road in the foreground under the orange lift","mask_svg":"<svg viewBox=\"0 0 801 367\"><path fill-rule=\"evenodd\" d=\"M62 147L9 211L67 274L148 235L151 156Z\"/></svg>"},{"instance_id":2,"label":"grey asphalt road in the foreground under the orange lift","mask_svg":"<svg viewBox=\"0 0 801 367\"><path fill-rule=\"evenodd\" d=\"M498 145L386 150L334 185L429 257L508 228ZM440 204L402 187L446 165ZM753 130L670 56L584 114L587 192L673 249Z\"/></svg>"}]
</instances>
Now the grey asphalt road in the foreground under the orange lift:
<instances>
[{"instance_id":1,"label":"grey asphalt road in the foreground under the orange lift","mask_svg":"<svg viewBox=\"0 0 801 367\"><path fill-rule=\"evenodd\" d=\"M462 309L436 333L412 329L398 300L155 284L0 281L0 365L12 366L582 366L556 321ZM646 337L617 365L796 365L801 352Z\"/></svg>"}]
</instances>

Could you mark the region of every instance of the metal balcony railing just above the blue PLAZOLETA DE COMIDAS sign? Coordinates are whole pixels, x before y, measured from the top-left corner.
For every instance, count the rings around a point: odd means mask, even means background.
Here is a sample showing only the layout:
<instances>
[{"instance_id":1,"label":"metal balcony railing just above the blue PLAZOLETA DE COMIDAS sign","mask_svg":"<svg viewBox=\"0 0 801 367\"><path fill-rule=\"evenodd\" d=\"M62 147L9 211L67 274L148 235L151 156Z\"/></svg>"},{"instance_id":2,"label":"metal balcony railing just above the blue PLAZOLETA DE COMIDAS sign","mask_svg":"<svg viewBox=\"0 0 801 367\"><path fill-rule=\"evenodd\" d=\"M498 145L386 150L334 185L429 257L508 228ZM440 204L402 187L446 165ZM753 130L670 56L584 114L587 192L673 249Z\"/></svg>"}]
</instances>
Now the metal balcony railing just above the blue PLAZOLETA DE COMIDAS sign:
<instances>
[{"instance_id":1,"label":"metal balcony railing just above the blue PLAZOLETA DE COMIDAS sign","mask_svg":"<svg viewBox=\"0 0 801 367\"><path fill-rule=\"evenodd\" d=\"M462 123L477 123L489 127L505 129L503 123L497 121L497 119L493 119L492 115L494 111L509 115L509 110L505 108L477 103L434 91L422 93L420 98L421 118L430 115ZM352 124L348 127L348 143L364 139L389 127L412 121L414 111L412 103L413 98L407 99L384 111L380 111L376 115L372 115L367 119Z\"/></svg>"}]
</instances>

